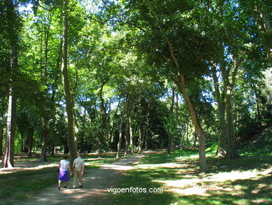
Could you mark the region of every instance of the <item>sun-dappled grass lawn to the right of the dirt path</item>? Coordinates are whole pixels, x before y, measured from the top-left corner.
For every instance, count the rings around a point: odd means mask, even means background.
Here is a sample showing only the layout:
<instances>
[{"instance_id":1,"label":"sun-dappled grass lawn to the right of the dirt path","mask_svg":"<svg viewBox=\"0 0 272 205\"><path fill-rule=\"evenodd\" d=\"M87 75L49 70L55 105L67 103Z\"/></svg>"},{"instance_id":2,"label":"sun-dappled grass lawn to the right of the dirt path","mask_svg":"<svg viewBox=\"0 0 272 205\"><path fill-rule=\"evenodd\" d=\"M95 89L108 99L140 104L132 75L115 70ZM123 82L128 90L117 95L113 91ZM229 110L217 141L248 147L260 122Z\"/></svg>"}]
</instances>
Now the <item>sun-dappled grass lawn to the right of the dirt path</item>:
<instances>
[{"instance_id":1,"label":"sun-dappled grass lawn to the right of the dirt path","mask_svg":"<svg viewBox=\"0 0 272 205\"><path fill-rule=\"evenodd\" d=\"M195 154L193 150L144 157L139 169L123 173L118 188L162 188L163 193L119 192L112 194L113 204L272 204L271 156L207 157L210 172L199 174L198 159L190 158ZM220 178L224 174L229 178ZM239 175L232 178L235 174Z\"/></svg>"}]
</instances>

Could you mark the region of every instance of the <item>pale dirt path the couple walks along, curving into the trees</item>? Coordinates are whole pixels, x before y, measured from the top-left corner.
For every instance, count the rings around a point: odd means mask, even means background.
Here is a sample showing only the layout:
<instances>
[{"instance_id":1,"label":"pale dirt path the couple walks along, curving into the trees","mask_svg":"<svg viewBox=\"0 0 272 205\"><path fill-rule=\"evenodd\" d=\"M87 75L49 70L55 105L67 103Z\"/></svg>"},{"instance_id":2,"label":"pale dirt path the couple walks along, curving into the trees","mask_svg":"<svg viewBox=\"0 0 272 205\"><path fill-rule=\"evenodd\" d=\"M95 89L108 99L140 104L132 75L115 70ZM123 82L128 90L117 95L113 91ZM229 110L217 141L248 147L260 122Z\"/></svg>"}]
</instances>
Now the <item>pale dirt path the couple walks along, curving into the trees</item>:
<instances>
[{"instance_id":1,"label":"pale dirt path the couple walks along, curving into the trees","mask_svg":"<svg viewBox=\"0 0 272 205\"><path fill-rule=\"evenodd\" d=\"M123 171L133 169L142 155L123 158L112 164L105 164L98 169L86 169L83 178L83 188L72 189L73 178L68 181L68 189L57 190L54 185L46 188L36 197L22 204L111 204L107 189L114 188L121 182ZM21 204L21 203L20 203Z\"/></svg>"}]
</instances>

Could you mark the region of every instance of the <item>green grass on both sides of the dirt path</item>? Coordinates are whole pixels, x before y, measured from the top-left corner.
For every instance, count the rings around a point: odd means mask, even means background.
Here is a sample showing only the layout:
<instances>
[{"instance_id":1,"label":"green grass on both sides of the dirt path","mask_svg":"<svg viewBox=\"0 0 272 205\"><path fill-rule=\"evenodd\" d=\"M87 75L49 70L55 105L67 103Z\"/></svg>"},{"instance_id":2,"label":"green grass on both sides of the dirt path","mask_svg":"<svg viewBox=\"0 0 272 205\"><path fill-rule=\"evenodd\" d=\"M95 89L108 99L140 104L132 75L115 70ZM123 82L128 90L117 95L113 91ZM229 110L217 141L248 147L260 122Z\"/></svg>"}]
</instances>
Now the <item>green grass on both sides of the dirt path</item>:
<instances>
[{"instance_id":1,"label":"green grass on both sides of the dirt path","mask_svg":"<svg viewBox=\"0 0 272 205\"><path fill-rule=\"evenodd\" d=\"M216 145L206 148L208 174L199 173L198 150L176 150L142 158L134 169L123 171L114 188L161 188L162 193L109 193L103 204L272 204L271 129L239 147L241 157L214 157ZM48 157L57 164L62 155ZM86 169L115 162L113 153L83 155ZM38 163L38 156L17 156L20 163ZM56 184L56 167L0 175L0 204L20 202ZM109 187L110 188L110 187Z\"/></svg>"}]
</instances>

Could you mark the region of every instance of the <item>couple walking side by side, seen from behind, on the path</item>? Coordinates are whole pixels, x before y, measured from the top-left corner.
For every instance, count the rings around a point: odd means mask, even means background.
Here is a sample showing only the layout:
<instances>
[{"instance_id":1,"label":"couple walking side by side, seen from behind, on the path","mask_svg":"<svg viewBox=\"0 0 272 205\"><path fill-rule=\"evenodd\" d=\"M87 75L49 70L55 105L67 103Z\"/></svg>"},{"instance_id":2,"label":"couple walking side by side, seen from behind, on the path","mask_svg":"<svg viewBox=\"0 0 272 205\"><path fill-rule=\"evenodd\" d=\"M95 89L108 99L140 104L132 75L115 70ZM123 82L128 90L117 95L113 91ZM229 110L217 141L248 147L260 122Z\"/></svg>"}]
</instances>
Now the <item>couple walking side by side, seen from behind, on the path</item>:
<instances>
[{"instance_id":1,"label":"couple walking side by side, seen from behind, on the path","mask_svg":"<svg viewBox=\"0 0 272 205\"><path fill-rule=\"evenodd\" d=\"M70 176L72 176L72 171L70 169L70 162L67 160L67 156L63 157L63 160L59 162L59 187L61 190L61 181L63 181L63 188L67 188L67 182L69 181L68 171L70 172ZM84 160L80 157L80 153L77 154L77 158L73 162L74 178L73 178L73 188L75 189L75 184L77 182L77 177L79 177L80 188L82 188L82 176L84 174Z\"/></svg>"}]
</instances>

